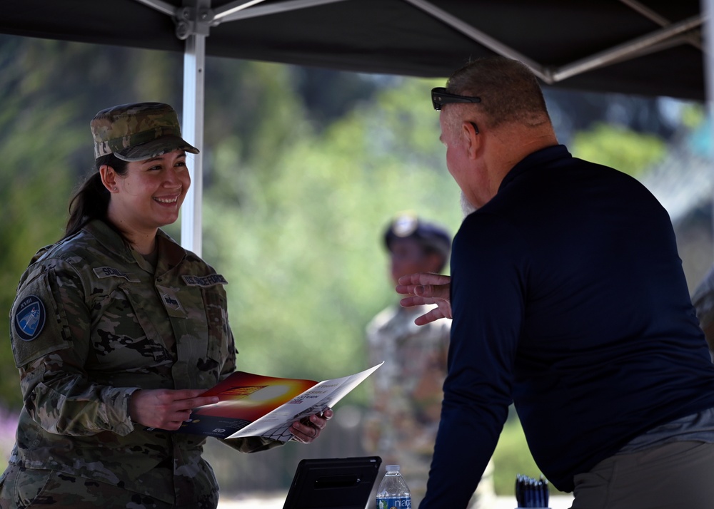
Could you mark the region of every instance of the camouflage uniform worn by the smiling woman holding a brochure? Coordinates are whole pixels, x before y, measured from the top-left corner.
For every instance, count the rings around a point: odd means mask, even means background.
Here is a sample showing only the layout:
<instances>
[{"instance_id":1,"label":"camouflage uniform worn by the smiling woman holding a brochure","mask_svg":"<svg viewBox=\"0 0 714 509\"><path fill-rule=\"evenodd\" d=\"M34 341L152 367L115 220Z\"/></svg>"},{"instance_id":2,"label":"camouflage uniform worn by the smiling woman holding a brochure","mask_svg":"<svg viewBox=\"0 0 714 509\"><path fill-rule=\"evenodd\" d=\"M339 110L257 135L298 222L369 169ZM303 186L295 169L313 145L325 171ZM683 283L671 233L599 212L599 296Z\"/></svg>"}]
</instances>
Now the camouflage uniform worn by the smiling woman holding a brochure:
<instances>
[{"instance_id":1,"label":"camouflage uniform worn by the smiling woman holding a brochure","mask_svg":"<svg viewBox=\"0 0 714 509\"><path fill-rule=\"evenodd\" d=\"M24 407L2 509L81 508L78 493L105 509L216 507L205 438L129 417L137 389L208 389L236 368L226 280L161 230L157 242L155 270L94 221L40 250L21 277L10 318Z\"/></svg>"}]
</instances>

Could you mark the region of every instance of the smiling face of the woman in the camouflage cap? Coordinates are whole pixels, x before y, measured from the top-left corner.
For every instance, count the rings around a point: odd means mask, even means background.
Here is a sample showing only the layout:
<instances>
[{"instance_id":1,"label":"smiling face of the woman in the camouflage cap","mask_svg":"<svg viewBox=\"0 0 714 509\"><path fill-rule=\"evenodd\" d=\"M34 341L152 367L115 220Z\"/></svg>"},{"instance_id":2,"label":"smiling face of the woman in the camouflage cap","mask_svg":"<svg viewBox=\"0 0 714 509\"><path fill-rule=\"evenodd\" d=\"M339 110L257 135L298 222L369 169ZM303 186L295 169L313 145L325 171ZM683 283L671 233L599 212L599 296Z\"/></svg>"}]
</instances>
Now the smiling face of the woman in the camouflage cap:
<instances>
[{"instance_id":1,"label":"smiling face of the woman in the camouflage cap","mask_svg":"<svg viewBox=\"0 0 714 509\"><path fill-rule=\"evenodd\" d=\"M129 163L125 175L102 167L111 192L109 218L132 235L155 235L159 227L178 219L183 198L191 185L183 150Z\"/></svg>"}]
</instances>

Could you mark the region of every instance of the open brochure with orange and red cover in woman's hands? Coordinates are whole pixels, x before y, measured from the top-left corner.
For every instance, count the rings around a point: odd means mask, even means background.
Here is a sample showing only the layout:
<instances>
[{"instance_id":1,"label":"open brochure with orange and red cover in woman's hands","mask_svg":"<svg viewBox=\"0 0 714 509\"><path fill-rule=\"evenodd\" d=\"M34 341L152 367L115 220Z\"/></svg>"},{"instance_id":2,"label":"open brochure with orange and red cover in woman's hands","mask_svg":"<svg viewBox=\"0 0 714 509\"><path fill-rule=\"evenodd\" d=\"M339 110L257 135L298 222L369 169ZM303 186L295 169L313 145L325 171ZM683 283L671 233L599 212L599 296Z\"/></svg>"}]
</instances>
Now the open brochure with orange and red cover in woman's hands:
<instances>
[{"instance_id":1,"label":"open brochure with orange and red cover in woman's hands","mask_svg":"<svg viewBox=\"0 0 714 509\"><path fill-rule=\"evenodd\" d=\"M221 401L191 413L178 433L241 438L263 436L286 442L293 422L331 408L384 364L341 379L281 379L236 371L201 396Z\"/></svg>"}]
</instances>

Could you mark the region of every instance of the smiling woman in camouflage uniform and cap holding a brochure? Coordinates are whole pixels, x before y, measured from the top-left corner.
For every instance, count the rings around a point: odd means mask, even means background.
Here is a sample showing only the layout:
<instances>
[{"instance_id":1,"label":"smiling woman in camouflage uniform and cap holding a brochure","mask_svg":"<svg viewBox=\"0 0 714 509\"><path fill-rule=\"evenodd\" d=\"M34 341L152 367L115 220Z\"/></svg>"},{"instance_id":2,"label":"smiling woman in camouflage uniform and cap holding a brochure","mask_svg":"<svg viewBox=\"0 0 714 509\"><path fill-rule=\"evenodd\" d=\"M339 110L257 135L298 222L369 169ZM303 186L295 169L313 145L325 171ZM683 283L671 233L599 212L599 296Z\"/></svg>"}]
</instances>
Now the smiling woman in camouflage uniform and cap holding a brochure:
<instances>
[{"instance_id":1,"label":"smiling woman in camouflage uniform and cap holding a brochure","mask_svg":"<svg viewBox=\"0 0 714 509\"><path fill-rule=\"evenodd\" d=\"M0 508L214 509L206 437L171 431L218 401L201 394L236 369L227 281L161 230L178 218L186 153L198 150L163 103L101 110L91 133L94 172L11 308L24 406ZM313 441L331 416L293 423L293 438Z\"/></svg>"}]
</instances>

